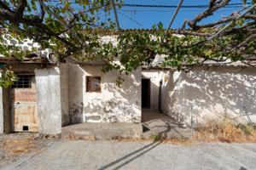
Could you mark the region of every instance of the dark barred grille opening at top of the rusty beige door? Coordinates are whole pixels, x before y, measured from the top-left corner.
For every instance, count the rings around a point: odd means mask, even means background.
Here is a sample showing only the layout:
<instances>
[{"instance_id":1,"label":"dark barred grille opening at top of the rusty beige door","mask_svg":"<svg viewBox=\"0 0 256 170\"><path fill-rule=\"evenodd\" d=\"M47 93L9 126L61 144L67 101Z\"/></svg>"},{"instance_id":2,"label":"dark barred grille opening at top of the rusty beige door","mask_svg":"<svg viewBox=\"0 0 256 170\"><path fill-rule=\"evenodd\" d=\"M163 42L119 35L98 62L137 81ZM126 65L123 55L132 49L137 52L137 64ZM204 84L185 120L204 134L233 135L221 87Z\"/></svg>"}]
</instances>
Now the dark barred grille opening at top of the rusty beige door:
<instances>
[{"instance_id":1,"label":"dark barred grille opening at top of the rusty beige door","mask_svg":"<svg viewBox=\"0 0 256 170\"><path fill-rule=\"evenodd\" d=\"M17 75L18 80L12 85L12 88L32 88L32 75Z\"/></svg>"}]
</instances>

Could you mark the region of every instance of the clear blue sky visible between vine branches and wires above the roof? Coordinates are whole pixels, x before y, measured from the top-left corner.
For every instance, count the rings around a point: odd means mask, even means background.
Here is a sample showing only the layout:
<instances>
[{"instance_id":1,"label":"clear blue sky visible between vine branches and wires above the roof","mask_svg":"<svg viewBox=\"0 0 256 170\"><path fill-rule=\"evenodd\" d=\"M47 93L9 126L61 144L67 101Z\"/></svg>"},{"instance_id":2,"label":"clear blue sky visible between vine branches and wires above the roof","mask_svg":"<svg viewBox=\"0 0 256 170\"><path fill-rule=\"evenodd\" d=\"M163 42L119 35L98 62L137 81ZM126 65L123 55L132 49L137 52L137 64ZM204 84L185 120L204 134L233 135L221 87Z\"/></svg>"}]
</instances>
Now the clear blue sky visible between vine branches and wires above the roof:
<instances>
[{"instance_id":1,"label":"clear blue sky visible between vine branches and wires above the roof","mask_svg":"<svg viewBox=\"0 0 256 170\"><path fill-rule=\"evenodd\" d=\"M154 4L154 5L177 5L179 0L124 0L124 3L131 4ZM183 5L207 5L209 0L184 0ZM241 3L241 0L231 0L230 3ZM216 14L202 20L202 23L219 20L240 8L221 8ZM168 26L175 8L139 8L122 7L118 9L119 23L123 29L127 28L151 28L154 24L162 22L165 27ZM191 20L195 15L200 14L204 8L181 8L177 14L172 28L182 26L183 20ZM132 20L131 20L132 19ZM136 20L136 21L134 21ZM139 24L137 24L139 23Z\"/></svg>"}]
</instances>

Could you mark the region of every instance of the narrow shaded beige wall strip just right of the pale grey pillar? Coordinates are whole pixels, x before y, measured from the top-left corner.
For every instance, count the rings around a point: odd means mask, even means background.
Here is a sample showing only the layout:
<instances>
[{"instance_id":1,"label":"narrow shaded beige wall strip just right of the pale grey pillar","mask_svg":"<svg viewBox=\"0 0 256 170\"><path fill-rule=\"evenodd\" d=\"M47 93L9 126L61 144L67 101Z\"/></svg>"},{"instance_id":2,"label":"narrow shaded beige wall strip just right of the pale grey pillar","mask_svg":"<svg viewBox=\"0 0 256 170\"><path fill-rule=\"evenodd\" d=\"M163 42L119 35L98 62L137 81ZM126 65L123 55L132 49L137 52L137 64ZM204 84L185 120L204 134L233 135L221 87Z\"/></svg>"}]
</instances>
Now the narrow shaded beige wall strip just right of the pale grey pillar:
<instances>
[{"instance_id":1,"label":"narrow shaded beige wall strip just right of the pale grey pillar","mask_svg":"<svg viewBox=\"0 0 256 170\"><path fill-rule=\"evenodd\" d=\"M68 64L60 64L61 71L61 122L62 126L69 124L69 96L68 96Z\"/></svg>"}]
</instances>

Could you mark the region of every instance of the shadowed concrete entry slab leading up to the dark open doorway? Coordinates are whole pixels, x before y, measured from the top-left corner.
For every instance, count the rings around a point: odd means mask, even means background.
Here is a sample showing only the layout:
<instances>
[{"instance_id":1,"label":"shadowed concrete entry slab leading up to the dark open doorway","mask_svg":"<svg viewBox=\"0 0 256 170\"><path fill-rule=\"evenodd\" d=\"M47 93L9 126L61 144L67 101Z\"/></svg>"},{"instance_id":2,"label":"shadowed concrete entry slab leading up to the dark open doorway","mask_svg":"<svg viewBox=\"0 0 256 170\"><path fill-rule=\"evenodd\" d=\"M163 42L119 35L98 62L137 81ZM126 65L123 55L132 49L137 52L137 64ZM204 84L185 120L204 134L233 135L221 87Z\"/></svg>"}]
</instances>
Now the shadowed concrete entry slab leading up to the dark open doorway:
<instances>
[{"instance_id":1,"label":"shadowed concrete entry slab leading up to the dark open doorway","mask_svg":"<svg viewBox=\"0 0 256 170\"><path fill-rule=\"evenodd\" d=\"M159 111L143 110L143 134L145 139L160 136L161 139L189 139L193 129L178 125L170 116Z\"/></svg>"}]
</instances>

